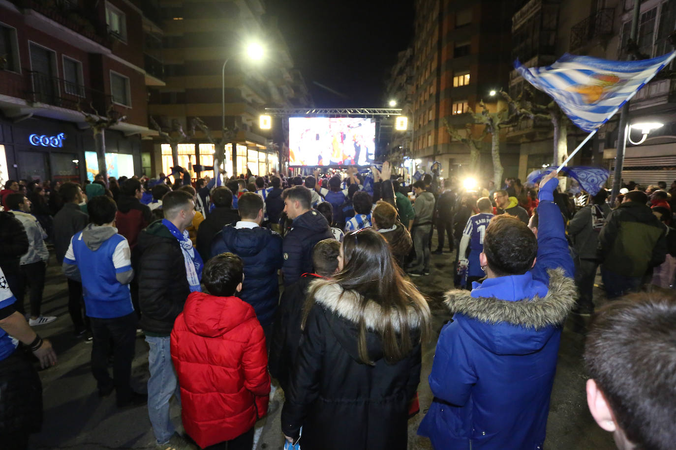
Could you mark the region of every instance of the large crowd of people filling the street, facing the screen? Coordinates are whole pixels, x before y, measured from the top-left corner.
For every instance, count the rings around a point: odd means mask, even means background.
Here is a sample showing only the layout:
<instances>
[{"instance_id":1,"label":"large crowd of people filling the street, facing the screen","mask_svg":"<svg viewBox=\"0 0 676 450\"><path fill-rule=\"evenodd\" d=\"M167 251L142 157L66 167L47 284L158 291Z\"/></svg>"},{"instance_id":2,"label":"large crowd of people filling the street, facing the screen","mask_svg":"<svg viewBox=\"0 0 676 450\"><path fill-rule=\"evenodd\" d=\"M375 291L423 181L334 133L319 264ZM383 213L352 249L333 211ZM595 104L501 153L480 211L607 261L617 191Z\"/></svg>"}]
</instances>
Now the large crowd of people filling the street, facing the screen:
<instances>
[{"instance_id":1,"label":"large crowd of people filling the street, facing the screen","mask_svg":"<svg viewBox=\"0 0 676 450\"><path fill-rule=\"evenodd\" d=\"M676 181L670 192L629 184L615 207L606 190L582 206L554 171L539 186L464 191L432 175L407 186L389 163L195 181L172 170L173 181L100 174L0 191L6 448L26 449L41 426L30 355L57 363L34 331L56 319L41 314L48 245L68 280L72 332L92 345L99 397L147 405L158 449L251 449L276 385L289 447L406 449L432 339L429 299L412 280L431 274L446 242L457 289L445 295L452 320L418 428L435 449L543 448L562 327L599 304L599 267L610 302L587 337L589 410L621 449L676 439ZM139 336L147 392L130 379Z\"/></svg>"}]
</instances>

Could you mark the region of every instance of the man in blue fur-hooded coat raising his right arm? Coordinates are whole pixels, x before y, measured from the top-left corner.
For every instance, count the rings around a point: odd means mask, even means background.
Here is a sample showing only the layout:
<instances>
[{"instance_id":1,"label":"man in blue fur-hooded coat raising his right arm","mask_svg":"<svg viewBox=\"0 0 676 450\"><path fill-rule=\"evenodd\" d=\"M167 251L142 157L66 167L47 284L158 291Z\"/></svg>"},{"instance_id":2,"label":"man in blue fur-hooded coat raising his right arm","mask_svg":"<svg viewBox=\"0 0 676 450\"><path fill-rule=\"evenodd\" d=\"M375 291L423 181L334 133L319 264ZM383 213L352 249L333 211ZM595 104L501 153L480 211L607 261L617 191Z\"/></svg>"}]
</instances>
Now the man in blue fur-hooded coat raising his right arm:
<instances>
[{"instance_id":1,"label":"man in blue fur-hooded coat raising his right arm","mask_svg":"<svg viewBox=\"0 0 676 450\"><path fill-rule=\"evenodd\" d=\"M577 296L557 185L556 172L540 184L537 238L517 218L494 218L479 256L487 279L447 293L453 322L439 335L435 399L418 429L437 450L544 444L562 324Z\"/></svg>"}]
</instances>

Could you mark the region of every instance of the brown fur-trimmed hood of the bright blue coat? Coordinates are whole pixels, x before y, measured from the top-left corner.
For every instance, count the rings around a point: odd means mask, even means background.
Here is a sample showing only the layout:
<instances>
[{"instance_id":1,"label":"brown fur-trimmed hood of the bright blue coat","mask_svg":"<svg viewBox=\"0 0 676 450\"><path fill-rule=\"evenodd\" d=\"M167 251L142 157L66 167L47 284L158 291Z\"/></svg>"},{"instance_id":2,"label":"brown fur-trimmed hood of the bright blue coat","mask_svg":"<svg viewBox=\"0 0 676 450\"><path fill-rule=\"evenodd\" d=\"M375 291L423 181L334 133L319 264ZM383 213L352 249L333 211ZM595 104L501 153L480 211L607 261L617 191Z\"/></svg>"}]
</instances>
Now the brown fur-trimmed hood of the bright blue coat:
<instances>
[{"instance_id":1,"label":"brown fur-trimmed hood of the bright blue coat","mask_svg":"<svg viewBox=\"0 0 676 450\"><path fill-rule=\"evenodd\" d=\"M537 294L544 285L527 273L493 279L498 284L491 289L498 292L504 289L508 298L516 290L514 279L530 283L522 291L533 291L534 295L523 300L500 300L499 294L473 297L469 291L452 290L446 293L445 303L462 329L493 353L527 354L550 339L577 299L575 283L562 269L550 269L548 273L550 281L544 296Z\"/></svg>"}]
</instances>

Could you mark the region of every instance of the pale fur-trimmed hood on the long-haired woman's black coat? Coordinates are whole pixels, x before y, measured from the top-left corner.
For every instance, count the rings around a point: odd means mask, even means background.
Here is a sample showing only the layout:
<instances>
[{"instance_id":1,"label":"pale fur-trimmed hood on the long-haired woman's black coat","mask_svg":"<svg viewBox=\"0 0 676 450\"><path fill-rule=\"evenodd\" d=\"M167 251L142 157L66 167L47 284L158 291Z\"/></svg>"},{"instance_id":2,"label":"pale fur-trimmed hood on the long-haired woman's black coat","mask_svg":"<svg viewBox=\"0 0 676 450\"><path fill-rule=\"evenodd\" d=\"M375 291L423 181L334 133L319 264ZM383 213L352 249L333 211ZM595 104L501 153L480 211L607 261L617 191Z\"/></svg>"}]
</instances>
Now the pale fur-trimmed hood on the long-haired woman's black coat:
<instances>
[{"instance_id":1,"label":"pale fur-trimmed hood on the long-haired woman's black coat","mask_svg":"<svg viewBox=\"0 0 676 450\"><path fill-rule=\"evenodd\" d=\"M327 314L329 325L333 331L336 339L341 343L341 346L349 353L354 360L360 361L358 351L358 336L359 336L359 322L360 322L360 302L362 296L355 291L343 289L339 284L333 282L331 279L318 279L310 283L309 289L312 290L318 287L314 301L315 308L321 306ZM418 306L423 314L431 314L427 300L420 295L412 302ZM406 309L407 322L410 326L410 335L412 339L416 340L420 336L420 316L416 312L416 308L412 304ZM383 358L383 346L380 335L385 329L385 311L383 307L368 300L366 309L364 310L364 323L366 325L366 345L368 347L368 356L372 361ZM393 327L395 331L400 331L399 317L396 312L390 312Z\"/></svg>"}]
</instances>

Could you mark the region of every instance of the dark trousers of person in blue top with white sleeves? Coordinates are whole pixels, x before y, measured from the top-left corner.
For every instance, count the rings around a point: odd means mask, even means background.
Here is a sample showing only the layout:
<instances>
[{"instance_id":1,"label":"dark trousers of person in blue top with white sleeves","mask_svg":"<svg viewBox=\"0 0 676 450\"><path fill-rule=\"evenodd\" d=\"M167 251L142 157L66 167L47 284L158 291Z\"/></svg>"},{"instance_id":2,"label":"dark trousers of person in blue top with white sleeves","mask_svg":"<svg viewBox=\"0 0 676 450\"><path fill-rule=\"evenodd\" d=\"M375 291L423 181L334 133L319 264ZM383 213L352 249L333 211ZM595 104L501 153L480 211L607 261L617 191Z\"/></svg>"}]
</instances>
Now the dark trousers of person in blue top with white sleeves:
<instances>
[{"instance_id":1,"label":"dark trousers of person in blue top with white sleeves","mask_svg":"<svg viewBox=\"0 0 676 450\"><path fill-rule=\"evenodd\" d=\"M128 401L131 395L129 378L131 361L134 358L136 340L136 313L116 318L91 319L91 333L94 337L91 347L91 373L99 390L114 386L118 402ZM108 374L108 355L113 345L113 378Z\"/></svg>"}]
</instances>

